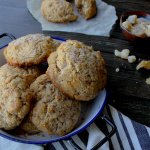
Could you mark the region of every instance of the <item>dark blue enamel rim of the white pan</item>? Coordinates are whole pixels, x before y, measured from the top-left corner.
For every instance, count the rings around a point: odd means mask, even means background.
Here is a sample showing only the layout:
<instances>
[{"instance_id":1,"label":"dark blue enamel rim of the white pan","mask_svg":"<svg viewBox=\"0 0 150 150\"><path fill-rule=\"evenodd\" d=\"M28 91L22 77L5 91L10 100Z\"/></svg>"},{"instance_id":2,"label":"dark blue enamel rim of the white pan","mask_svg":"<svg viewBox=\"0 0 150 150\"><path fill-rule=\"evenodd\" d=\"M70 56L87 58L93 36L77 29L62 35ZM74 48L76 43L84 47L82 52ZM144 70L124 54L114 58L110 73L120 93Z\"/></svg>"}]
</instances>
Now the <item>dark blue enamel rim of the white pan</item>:
<instances>
[{"instance_id":1,"label":"dark blue enamel rim of the white pan","mask_svg":"<svg viewBox=\"0 0 150 150\"><path fill-rule=\"evenodd\" d=\"M50 36L51 38L53 39L56 39L56 40L60 40L60 41L66 41L66 39L64 38L59 38L59 37L53 37L53 36ZM8 45L8 44L7 44ZM0 50L4 47L6 47L7 45L4 45L3 47L0 48ZM63 136L63 137L60 137L60 138L56 138L54 140L49 140L49 141L27 141L27 140L22 140L22 139L17 139L17 138L14 138L14 137L9 137L7 135L4 135L2 133L0 133L0 136L6 138L6 139L9 139L9 140L12 140L12 141L15 141L15 142L20 142L20 143L26 143L26 144L48 144L48 143L53 143L53 142L57 142L59 140L65 140L67 138L70 138L72 137L73 135L75 134L78 134L79 132L83 131L85 128L87 128L92 122L94 122L94 120L97 118L97 116L103 111L104 109L104 106L107 102L107 97L108 97L108 94L109 94L109 89L105 89L106 90L106 95L105 95L105 99L104 99L104 102L102 104L102 107L100 108L100 110L97 112L97 114L95 115L95 117L93 119L91 119L91 121L89 123L87 123L84 127L82 127L81 129L77 130L76 132L73 132L71 134L68 134L66 136Z\"/></svg>"}]
</instances>

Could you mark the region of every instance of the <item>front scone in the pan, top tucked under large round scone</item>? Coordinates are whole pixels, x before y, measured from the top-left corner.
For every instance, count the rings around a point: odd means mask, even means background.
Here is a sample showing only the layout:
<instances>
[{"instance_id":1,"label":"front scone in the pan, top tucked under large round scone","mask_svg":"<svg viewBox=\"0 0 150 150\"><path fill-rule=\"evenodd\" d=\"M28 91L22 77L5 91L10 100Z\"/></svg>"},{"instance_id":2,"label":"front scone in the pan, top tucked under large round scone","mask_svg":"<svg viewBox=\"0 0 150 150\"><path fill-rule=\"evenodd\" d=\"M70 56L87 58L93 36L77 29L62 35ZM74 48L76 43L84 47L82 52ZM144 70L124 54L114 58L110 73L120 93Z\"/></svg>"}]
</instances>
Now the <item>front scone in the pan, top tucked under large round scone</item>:
<instances>
[{"instance_id":1,"label":"front scone in the pan, top tucked under large round scone","mask_svg":"<svg viewBox=\"0 0 150 150\"><path fill-rule=\"evenodd\" d=\"M30 114L35 126L49 135L65 135L78 121L79 101L66 97L48 79L41 75L30 86L36 104Z\"/></svg>"}]
</instances>

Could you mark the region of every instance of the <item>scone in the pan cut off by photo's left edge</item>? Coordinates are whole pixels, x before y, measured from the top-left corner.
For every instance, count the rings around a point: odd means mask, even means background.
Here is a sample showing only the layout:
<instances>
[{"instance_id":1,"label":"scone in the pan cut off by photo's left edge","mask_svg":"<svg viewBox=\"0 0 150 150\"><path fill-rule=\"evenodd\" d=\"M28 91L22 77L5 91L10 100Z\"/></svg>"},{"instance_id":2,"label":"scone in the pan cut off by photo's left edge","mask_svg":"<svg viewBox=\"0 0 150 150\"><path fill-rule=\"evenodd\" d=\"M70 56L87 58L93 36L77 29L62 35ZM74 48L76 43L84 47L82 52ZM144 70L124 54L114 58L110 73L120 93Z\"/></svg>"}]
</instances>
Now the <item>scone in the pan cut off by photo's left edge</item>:
<instances>
[{"instance_id":1,"label":"scone in the pan cut off by photo's left edge","mask_svg":"<svg viewBox=\"0 0 150 150\"><path fill-rule=\"evenodd\" d=\"M6 66L0 68L1 129L12 130L20 125L29 112L31 95L29 83L23 76L13 74Z\"/></svg>"}]
</instances>

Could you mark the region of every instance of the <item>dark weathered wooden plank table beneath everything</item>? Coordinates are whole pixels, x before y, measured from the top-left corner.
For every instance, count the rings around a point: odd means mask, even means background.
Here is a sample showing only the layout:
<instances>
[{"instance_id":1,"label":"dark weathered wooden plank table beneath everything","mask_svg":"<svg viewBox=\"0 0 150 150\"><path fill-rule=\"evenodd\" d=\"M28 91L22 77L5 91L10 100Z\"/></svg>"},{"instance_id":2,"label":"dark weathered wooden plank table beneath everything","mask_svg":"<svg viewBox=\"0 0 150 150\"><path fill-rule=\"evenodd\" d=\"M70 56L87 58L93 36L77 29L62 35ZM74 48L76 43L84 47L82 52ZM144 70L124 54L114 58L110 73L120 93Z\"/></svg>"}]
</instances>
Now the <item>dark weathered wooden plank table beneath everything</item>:
<instances>
[{"instance_id":1,"label":"dark weathered wooden plank table beneath everything","mask_svg":"<svg viewBox=\"0 0 150 150\"><path fill-rule=\"evenodd\" d=\"M103 0L116 7L118 18L131 10L141 10L150 13L148 0ZM28 12L25 0L0 0L0 34L11 33L16 38L30 34L42 33L41 25ZM45 33L46 34L46 33ZM150 60L149 44L133 43L121 33L119 19L113 26L110 37L91 36L77 33L49 32L48 35L76 39L100 50L106 62L108 71L108 86L110 94L108 103L135 121L150 126L150 85L145 83L150 76L146 69L136 70L139 59ZM0 46L10 42L4 38ZM127 60L117 58L114 50L128 48L137 57L136 63L129 64ZM116 68L120 71L116 72Z\"/></svg>"}]
</instances>

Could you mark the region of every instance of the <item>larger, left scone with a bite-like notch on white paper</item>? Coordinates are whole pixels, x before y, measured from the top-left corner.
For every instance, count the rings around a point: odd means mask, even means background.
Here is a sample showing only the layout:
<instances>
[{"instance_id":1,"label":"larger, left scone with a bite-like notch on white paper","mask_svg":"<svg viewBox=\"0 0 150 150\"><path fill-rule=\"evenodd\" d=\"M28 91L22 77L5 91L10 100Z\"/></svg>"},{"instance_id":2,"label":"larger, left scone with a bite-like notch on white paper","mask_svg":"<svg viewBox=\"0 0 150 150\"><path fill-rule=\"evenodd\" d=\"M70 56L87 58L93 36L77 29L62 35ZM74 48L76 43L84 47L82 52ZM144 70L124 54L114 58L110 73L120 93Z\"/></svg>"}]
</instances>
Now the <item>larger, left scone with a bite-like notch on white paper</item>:
<instances>
[{"instance_id":1,"label":"larger, left scone with a bite-like notch on white paper","mask_svg":"<svg viewBox=\"0 0 150 150\"><path fill-rule=\"evenodd\" d=\"M72 5L66 0L44 0L41 5L41 13L51 22L75 21L78 15L73 14Z\"/></svg>"}]
</instances>

